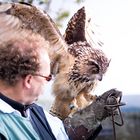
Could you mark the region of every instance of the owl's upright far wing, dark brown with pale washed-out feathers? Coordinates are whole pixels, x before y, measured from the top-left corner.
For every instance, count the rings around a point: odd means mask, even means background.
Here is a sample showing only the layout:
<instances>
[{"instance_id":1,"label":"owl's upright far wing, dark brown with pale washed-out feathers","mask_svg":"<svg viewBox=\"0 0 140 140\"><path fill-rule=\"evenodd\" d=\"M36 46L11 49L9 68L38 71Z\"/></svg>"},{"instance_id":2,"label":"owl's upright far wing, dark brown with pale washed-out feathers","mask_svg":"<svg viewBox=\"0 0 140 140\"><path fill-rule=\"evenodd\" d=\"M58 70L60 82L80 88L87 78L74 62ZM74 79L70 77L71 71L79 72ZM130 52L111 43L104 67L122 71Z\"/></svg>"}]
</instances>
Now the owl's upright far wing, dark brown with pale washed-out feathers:
<instances>
[{"instance_id":1,"label":"owl's upright far wing, dark brown with pale washed-out feathers","mask_svg":"<svg viewBox=\"0 0 140 140\"><path fill-rule=\"evenodd\" d=\"M93 48L98 48L103 45L98 30L99 27L92 22L88 10L85 7L82 7L68 22L64 38L68 44L86 41Z\"/></svg>"}]
</instances>

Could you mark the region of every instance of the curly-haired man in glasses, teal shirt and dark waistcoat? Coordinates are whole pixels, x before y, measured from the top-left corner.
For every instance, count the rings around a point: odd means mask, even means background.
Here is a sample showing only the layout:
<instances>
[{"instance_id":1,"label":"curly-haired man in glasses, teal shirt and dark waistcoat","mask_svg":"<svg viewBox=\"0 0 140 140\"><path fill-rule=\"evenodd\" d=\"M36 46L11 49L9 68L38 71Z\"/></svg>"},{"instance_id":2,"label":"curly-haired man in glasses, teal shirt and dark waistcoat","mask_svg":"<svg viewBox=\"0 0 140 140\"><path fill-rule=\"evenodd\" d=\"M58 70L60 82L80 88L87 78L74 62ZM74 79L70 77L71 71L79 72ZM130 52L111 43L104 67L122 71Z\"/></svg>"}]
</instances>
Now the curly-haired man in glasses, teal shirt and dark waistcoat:
<instances>
[{"instance_id":1,"label":"curly-haired man in glasses, teal shirt and dark waistcoat","mask_svg":"<svg viewBox=\"0 0 140 140\"><path fill-rule=\"evenodd\" d=\"M44 115L34 104L51 79L48 42L27 32L7 40L0 41L1 137L14 140L68 139L62 122L47 112ZM41 115L47 119L37 118Z\"/></svg>"}]
</instances>

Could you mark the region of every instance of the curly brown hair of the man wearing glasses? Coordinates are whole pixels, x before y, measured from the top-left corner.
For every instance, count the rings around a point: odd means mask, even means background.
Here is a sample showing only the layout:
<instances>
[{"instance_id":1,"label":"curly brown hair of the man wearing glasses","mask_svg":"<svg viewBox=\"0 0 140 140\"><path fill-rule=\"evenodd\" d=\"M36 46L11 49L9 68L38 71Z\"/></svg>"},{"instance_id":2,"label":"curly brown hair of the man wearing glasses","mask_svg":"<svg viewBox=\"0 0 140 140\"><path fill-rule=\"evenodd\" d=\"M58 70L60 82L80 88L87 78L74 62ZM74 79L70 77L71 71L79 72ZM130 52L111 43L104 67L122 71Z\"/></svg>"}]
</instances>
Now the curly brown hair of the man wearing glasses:
<instances>
[{"instance_id":1,"label":"curly brown hair of the man wearing glasses","mask_svg":"<svg viewBox=\"0 0 140 140\"><path fill-rule=\"evenodd\" d=\"M13 86L20 78L39 71L38 50L43 46L44 40L33 35L0 43L0 80Z\"/></svg>"}]
</instances>

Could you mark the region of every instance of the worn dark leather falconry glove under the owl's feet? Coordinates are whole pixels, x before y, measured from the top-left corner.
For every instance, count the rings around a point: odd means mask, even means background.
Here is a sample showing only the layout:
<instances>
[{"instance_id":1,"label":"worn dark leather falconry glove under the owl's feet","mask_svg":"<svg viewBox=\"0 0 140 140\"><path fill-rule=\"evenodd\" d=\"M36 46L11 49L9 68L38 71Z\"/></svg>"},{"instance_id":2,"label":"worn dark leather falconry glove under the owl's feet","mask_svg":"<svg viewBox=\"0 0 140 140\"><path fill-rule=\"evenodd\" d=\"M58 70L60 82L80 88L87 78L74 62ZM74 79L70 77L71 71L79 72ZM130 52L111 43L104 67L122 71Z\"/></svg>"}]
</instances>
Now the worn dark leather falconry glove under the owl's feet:
<instances>
[{"instance_id":1,"label":"worn dark leather falconry glove under the owl's feet","mask_svg":"<svg viewBox=\"0 0 140 140\"><path fill-rule=\"evenodd\" d=\"M113 114L117 114L116 104L120 104L122 92L116 89L106 91L98 96L96 101L88 107L74 113L64 120L68 136L72 140L92 139L98 134L97 128L101 122ZM110 107L112 106L112 107Z\"/></svg>"}]
</instances>

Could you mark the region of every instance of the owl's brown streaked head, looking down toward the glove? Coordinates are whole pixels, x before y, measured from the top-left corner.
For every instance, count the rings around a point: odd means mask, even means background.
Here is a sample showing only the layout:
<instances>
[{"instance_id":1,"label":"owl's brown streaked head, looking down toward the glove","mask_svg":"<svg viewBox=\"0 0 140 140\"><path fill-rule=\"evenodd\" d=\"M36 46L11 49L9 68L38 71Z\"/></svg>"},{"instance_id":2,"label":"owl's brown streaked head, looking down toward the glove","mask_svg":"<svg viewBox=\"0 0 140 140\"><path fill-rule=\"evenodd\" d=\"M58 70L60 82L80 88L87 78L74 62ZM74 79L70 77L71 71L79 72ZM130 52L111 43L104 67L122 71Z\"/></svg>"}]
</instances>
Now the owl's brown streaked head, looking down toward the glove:
<instances>
[{"instance_id":1,"label":"owl's brown streaked head, looking down toward the glove","mask_svg":"<svg viewBox=\"0 0 140 140\"><path fill-rule=\"evenodd\" d=\"M68 52L75 57L70 71L74 81L89 82L102 80L110 60L100 49L94 49L87 41L79 41L69 46Z\"/></svg>"}]
</instances>

